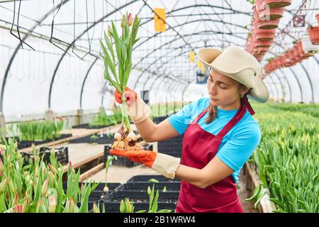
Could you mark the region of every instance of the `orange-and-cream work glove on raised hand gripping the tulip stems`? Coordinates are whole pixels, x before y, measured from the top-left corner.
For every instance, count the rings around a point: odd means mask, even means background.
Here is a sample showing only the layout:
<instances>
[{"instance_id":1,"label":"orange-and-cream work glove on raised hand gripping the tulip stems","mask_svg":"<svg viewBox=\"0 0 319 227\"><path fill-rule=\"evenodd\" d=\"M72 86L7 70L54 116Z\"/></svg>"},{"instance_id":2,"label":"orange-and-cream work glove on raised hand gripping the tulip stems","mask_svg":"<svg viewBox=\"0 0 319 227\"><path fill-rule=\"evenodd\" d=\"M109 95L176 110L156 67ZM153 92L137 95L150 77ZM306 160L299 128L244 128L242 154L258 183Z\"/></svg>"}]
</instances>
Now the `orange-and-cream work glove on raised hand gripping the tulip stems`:
<instances>
[{"instance_id":1,"label":"orange-and-cream work glove on raised hand gripping the tulip stems","mask_svg":"<svg viewBox=\"0 0 319 227\"><path fill-rule=\"evenodd\" d=\"M150 107L145 104L136 92L126 87L123 95L125 96L125 102L128 107L128 116L130 116L134 123L140 123L150 115ZM122 97L118 90L114 93L114 98L119 104L122 104Z\"/></svg>"}]
</instances>

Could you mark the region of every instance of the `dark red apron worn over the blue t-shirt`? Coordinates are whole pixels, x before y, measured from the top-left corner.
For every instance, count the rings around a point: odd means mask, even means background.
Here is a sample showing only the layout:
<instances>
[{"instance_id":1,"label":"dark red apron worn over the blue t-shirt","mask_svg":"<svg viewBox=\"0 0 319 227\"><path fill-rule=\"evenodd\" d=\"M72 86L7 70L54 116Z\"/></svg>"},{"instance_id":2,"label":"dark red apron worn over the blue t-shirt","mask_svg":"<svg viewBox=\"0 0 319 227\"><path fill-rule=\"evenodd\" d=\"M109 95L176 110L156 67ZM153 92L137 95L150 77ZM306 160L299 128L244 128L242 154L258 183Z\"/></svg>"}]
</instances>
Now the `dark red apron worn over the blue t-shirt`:
<instances>
[{"instance_id":1,"label":"dark red apron worn over the blue t-shirt","mask_svg":"<svg viewBox=\"0 0 319 227\"><path fill-rule=\"evenodd\" d=\"M198 120L206 114L208 108L201 112L186 128L181 151L181 164L197 169L205 167L215 157L223 137L245 115L247 108L246 104L242 104L235 116L218 135L208 133L198 125ZM242 213L244 210L237 196L235 181L230 175L205 189L182 180L176 212Z\"/></svg>"}]
</instances>

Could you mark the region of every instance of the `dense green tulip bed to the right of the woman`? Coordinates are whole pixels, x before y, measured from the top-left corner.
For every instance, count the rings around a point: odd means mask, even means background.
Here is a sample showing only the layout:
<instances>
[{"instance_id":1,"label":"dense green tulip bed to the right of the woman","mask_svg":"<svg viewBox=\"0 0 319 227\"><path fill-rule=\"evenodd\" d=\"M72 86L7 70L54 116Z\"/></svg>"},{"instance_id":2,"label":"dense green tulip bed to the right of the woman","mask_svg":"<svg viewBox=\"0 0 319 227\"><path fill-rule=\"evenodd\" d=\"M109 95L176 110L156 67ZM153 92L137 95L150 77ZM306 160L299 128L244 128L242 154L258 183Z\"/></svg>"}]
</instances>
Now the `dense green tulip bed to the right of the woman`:
<instances>
[{"instance_id":1,"label":"dense green tulip bed to the right of the woman","mask_svg":"<svg viewBox=\"0 0 319 227\"><path fill-rule=\"evenodd\" d=\"M252 156L275 212L319 212L318 104L254 104L262 141ZM263 190L264 189L264 190Z\"/></svg>"}]
</instances>

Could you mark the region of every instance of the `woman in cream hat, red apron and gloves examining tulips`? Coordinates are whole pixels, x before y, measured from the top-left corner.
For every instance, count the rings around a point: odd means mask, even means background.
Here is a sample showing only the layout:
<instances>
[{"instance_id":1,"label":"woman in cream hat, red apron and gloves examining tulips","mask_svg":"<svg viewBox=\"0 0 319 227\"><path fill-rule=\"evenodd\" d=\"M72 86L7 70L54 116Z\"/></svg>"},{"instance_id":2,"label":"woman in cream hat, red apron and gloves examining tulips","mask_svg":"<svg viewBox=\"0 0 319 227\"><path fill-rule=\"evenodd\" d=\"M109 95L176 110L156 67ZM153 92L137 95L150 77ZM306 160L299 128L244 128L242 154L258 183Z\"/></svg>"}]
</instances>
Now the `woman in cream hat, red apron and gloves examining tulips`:
<instances>
[{"instance_id":1,"label":"woman in cream hat, red apron and gloves examining tulips","mask_svg":"<svg viewBox=\"0 0 319 227\"><path fill-rule=\"evenodd\" d=\"M177 157L152 151L111 153L142 162L166 177L179 177L176 212L243 212L236 182L261 138L247 97L266 102L269 93L259 77L259 62L245 50L203 48L198 59L211 68L207 82L210 98L184 106L158 125L147 117L150 109L135 92L124 92L128 114L145 141L184 133L181 163ZM115 96L121 103L121 94Z\"/></svg>"}]
</instances>

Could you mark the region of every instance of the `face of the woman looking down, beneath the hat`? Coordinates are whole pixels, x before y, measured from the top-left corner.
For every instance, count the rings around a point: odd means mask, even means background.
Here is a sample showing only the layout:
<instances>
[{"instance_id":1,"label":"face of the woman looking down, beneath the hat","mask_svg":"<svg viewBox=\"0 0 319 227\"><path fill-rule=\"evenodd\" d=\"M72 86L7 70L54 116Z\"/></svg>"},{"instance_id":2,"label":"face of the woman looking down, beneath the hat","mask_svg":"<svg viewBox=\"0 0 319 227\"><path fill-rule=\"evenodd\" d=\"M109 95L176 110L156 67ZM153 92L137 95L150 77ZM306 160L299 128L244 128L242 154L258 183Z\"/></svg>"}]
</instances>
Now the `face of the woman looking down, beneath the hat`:
<instances>
[{"instance_id":1,"label":"face of the woman looking down, beneath the hat","mask_svg":"<svg viewBox=\"0 0 319 227\"><path fill-rule=\"evenodd\" d=\"M220 72L211 70L207 80L208 94L211 104L215 106L229 106L240 101L247 88L241 86L235 79L225 76Z\"/></svg>"}]
</instances>

